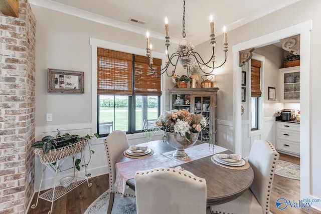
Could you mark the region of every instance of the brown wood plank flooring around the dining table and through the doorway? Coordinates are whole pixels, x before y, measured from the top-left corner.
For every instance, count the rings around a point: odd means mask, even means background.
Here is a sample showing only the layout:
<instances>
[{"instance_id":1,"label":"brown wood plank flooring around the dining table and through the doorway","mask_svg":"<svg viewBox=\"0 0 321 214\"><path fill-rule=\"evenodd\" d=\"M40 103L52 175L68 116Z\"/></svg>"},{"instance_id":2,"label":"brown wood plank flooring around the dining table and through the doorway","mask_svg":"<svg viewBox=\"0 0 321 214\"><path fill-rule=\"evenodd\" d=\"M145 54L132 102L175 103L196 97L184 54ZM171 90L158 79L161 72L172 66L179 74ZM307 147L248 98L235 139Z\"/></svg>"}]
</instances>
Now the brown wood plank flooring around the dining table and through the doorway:
<instances>
[{"instance_id":1,"label":"brown wood plank flooring around the dining table and through the doorway","mask_svg":"<svg viewBox=\"0 0 321 214\"><path fill-rule=\"evenodd\" d=\"M290 155L280 154L280 160L289 161L295 164L300 164L300 159ZM88 187L87 182L81 184L79 187L75 188L68 194L62 196L54 202L52 214L83 214L87 207L109 188L108 175L101 175L94 178L99 184L96 185L92 181L92 186ZM270 210L273 214L283 214L283 213L293 213L293 214L320 214L321 211L311 208L306 210L304 208L286 208L284 210L279 210L275 206L275 201L279 197L284 197L289 200L299 200L300 199L300 181L285 178L279 175L274 176L272 194L270 200ZM37 199L37 193L33 198L31 203L35 204ZM39 199L38 205L35 209L31 207L28 210L28 214L35 213L48 213L50 210L51 202ZM122 214L122 213L119 213Z\"/></svg>"}]
</instances>

